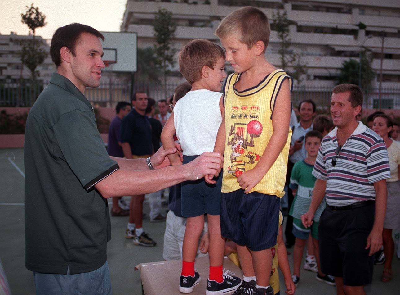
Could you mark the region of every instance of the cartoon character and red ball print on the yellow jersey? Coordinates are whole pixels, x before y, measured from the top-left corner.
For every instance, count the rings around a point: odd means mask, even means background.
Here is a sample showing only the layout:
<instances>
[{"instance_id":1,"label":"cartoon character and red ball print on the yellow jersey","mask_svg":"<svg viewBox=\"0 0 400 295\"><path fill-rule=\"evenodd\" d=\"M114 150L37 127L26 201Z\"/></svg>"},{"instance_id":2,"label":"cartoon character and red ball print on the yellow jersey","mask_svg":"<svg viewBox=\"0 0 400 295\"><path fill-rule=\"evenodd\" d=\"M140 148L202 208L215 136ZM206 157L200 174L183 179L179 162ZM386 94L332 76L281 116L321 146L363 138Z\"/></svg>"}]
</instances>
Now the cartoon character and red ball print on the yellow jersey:
<instances>
[{"instance_id":1,"label":"cartoon character and red ball print on the yellow jersey","mask_svg":"<svg viewBox=\"0 0 400 295\"><path fill-rule=\"evenodd\" d=\"M249 123L235 123L231 126L228 135L228 145L231 147L231 165L228 173L238 178L246 170L247 164L254 164L260 160L261 155L252 152L249 148L254 147L254 138L260 137L262 124L257 120Z\"/></svg>"}]
</instances>

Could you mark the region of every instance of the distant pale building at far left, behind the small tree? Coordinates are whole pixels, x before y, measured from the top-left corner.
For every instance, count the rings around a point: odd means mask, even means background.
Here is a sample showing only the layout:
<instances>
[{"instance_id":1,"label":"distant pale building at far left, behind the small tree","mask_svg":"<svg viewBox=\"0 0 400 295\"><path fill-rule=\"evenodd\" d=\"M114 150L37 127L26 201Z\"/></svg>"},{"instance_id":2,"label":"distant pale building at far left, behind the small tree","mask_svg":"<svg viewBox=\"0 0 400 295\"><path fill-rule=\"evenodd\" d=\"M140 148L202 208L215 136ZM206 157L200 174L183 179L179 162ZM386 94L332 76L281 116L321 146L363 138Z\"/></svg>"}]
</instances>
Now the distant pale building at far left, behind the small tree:
<instances>
[{"instance_id":1,"label":"distant pale building at far left, behind the small tree","mask_svg":"<svg viewBox=\"0 0 400 295\"><path fill-rule=\"evenodd\" d=\"M23 66L20 59L21 42L32 40L32 35L17 35L11 32L10 35L0 34L0 83L15 83L20 80L21 70L24 79L30 79L30 71ZM43 42L43 47L47 53L50 51L50 45L41 36L36 36L36 40ZM44 63L36 68L40 76L38 80L48 81L52 73L56 70L50 55L44 60Z\"/></svg>"}]
</instances>

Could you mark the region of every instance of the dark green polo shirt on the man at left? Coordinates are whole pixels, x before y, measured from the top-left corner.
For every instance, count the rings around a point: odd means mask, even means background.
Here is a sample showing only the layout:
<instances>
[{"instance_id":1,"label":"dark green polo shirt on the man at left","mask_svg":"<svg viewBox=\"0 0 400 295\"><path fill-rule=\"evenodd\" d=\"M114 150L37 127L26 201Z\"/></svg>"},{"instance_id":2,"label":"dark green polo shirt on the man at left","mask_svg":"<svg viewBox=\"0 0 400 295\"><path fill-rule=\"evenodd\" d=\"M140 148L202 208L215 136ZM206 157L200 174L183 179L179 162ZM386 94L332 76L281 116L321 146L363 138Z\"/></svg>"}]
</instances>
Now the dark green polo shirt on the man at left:
<instances>
[{"instance_id":1,"label":"dark green polo shirt on the man at left","mask_svg":"<svg viewBox=\"0 0 400 295\"><path fill-rule=\"evenodd\" d=\"M86 273L107 260L107 200L94 185L119 167L107 154L94 109L54 73L30 109L25 130L26 268Z\"/></svg>"}]
</instances>

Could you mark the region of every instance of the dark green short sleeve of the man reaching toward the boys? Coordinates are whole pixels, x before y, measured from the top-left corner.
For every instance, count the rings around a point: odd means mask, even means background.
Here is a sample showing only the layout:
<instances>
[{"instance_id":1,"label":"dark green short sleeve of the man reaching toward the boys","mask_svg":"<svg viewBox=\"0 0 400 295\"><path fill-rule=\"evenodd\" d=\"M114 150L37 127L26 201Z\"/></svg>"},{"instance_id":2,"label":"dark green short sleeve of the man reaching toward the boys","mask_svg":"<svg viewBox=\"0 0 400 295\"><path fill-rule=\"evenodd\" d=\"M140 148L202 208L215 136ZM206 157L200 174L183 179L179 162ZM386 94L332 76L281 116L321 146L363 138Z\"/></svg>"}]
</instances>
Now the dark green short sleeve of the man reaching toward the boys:
<instances>
[{"instance_id":1,"label":"dark green short sleeve of the man reaching toward the boys","mask_svg":"<svg viewBox=\"0 0 400 295\"><path fill-rule=\"evenodd\" d=\"M119 169L108 156L91 115L77 109L61 115L53 126L60 150L85 190Z\"/></svg>"}]
</instances>

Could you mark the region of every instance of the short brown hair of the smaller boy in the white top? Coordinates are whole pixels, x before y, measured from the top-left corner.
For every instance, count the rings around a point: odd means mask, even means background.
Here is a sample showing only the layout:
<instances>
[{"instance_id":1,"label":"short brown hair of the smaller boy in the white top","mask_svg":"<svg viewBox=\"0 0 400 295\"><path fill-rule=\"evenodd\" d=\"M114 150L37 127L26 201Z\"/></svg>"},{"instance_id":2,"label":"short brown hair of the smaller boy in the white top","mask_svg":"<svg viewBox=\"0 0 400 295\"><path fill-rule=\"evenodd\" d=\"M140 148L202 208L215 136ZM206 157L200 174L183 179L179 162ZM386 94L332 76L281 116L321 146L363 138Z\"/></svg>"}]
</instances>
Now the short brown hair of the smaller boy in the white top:
<instances>
[{"instance_id":1,"label":"short brown hair of the smaller boy in the white top","mask_svg":"<svg viewBox=\"0 0 400 295\"><path fill-rule=\"evenodd\" d=\"M190 84L193 84L201 79L204 66L214 70L214 65L221 57L225 59L225 52L221 46L205 39L195 39L180 51L179 71Z\"/></svg>"}]
</instances>

